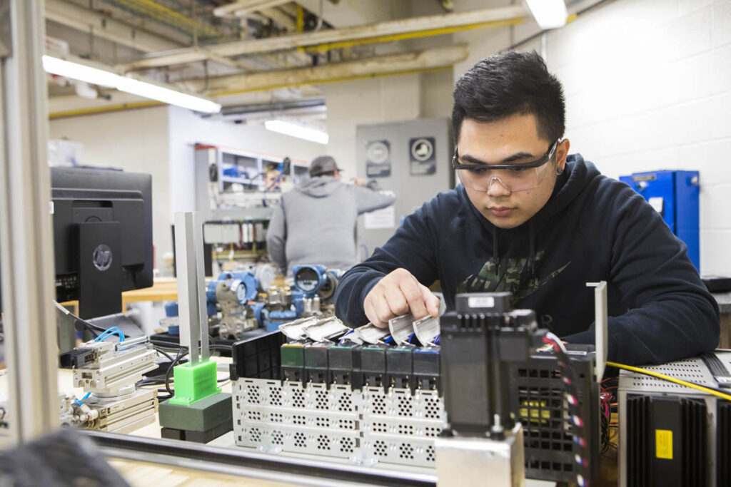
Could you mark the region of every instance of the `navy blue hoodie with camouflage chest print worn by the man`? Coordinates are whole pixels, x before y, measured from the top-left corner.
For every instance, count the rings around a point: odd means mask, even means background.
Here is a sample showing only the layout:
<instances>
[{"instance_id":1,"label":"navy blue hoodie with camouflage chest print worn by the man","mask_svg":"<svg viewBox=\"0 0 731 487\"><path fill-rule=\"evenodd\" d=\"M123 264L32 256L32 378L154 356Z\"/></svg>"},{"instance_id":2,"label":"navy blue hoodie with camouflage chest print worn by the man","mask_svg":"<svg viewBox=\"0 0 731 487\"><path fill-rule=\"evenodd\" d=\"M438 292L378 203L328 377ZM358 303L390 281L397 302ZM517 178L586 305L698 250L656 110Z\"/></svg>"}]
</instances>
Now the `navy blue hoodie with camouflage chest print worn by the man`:
<instances>
[{"instance_id":1,"label":"navy blue hoodie with camouflage chest print worn by the man","mask_svg":"<svg viewBox=\"0 0 731 487\"><path fill-rule=\"evenodd\" d=\"M606 280L609 359L661 364L708 352L719 312L660 215L628 185L567 159L548 203L514 229L493 226L462 185L409 215L374 255L338 284L336 314L366 323L363 300L403 267L420 283L439 280L447 309L455 294L511 291L514 306L568 342L594 343L594 290Z\"/></svg>"}]
</instances>

